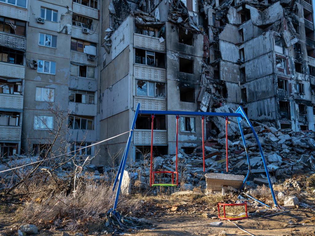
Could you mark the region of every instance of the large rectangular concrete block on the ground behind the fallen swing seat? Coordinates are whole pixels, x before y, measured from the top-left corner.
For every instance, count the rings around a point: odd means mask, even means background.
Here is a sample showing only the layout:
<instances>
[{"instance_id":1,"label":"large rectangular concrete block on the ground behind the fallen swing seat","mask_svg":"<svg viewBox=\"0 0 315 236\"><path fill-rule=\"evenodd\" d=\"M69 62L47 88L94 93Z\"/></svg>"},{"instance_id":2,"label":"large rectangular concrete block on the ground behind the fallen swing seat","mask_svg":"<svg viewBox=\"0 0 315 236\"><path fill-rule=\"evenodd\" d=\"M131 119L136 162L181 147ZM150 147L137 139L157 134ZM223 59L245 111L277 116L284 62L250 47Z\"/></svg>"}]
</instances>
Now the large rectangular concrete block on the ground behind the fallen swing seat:
<instances>
[{"instance_id":1,"label":"large rectangular concrete block on the ground behind the fallen swing seat","mask_svg":"<svg viewBox=\"0 0 315 236\"><path fill-rule=\"evenodd\" d=\"M243 175L207 173L205 177L208 192L221 190L221 186L232 186L239 189L244 181Z\"/></svg>"}]
</instances>

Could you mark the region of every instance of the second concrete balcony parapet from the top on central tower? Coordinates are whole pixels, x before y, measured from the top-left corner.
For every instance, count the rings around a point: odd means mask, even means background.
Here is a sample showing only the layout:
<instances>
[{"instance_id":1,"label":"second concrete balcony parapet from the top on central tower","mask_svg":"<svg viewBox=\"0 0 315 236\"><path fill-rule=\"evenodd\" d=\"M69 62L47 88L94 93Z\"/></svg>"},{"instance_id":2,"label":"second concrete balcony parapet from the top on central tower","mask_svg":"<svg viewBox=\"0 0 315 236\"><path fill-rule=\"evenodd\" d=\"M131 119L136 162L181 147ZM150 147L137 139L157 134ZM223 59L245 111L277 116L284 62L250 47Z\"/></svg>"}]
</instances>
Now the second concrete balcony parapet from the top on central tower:
<instances>
[{"instance_id":1,"label":"second concrete balcony parapet from the top on central tower","mask_svg":"<svg viewBox=\"0 0 315 236\"><path fill-rule=\"evenodd\" d=\"M165 69L153 66L134 65L134 77L136 79L166 82Z\"/></svg>"}]
</instances>

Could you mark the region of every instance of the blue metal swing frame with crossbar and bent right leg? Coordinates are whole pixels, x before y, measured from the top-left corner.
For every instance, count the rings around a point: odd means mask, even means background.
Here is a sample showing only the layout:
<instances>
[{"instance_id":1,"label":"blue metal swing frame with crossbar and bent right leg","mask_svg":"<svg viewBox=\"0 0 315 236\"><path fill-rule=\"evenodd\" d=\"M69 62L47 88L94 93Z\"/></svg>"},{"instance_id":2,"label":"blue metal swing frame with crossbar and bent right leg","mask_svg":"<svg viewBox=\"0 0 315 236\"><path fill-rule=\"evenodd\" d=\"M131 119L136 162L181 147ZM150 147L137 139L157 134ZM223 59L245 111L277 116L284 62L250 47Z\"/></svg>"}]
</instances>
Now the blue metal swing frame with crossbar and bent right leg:
<instances>
[{"instance_id":1,"label":"blue metal swing frame with crossbar and bent right leg","mask_svg":"<svg viewBox=\"0 0 315 236\"><path fill-rule=\"evenodd\" d=\"M134 116L134 119L132 121L132 125L131 125L131 129L130 129L130 133L129 133L129 138L128 138L128 141L127 141L127 144L126 144L126 147L125 147L125 150L124 150L124 153L123 153L123 157L122 157L122 160L120 162L120 165L119 165L119 168L118 168L118 172L117 172L117 175L116 175L116 178L115 178L115 181L114 181L114 184L113 184L113 188L112 188L112 191L115 190L116 188L116 184L118 182L118 186L117 186L117 192L116 192L116 197L115 197L115 202L114 202L114 206L112 209L110 209L110 211L113 211L113 213L116 212L116 208L117 208L117 203L118 203L118 197L119 197L119 193L120 193L120 187L121 187L121 183L122 183L122 177L123 177L123 171L125 169L125 165L126 165L126 161L127 161L127 156L128 156L128 151L129 151L129 147L130 147L130 143L131 143L131 138L132 138L132 134L133 134L133 129L135 127L135 123L136 123L136 120L137 120L137 117L138 117L138 114L146 114L146 115L193 115L193 116L222 116L222 117L236 117L237 121L238 121L238 127L239 127L239 130L240 130L240 134L242 136L242 140L243 140L243 145L244 145L244 149L245 149L245 153L246 153L246 158L247 158L247 163L248 163L248 171L247 171L247 174L246 174L246 177L243 181L243 184L242 184L242 187L239 189L239 190L242 190L248 177L249 177L249 174L250 174L250 161L249 161L249 154L248 154L248 150L247 150L247 145L246 145L246 141L245 141L245 138L244 138L244 134L243 134L243 130L242 130L242 126L241 126L241 121L242 120L245 120L251 131L253 132L254 134L254 137L257 141L257 145L258 145L258 148L259 148L259 151L260 151L260 154L261 154L261 159L262 159L262 162L263 162L263 165L264 165L264 168L265 168L265 171L266 171L266 176L267 176L267 180L268 180L268 184L269 184L269 187L270 187L270 191L271 191L271 195L272 195L272 199L273 199L273 202L274 202L274 205L276 207L278 207L278 204L277 204L277 200L276 200L276 197L275 197L275 194L274 194L274 191L273 191L273 188L272 188L272 183L271 183L271 179L270 179L270 176L269 176L269 172L268 172L268 167L267 167L267 164L266 164L266 160L265 160L265 157L264 157L264 153L262 151L262 148L261 148L261 144L259 142L259 139L258 139L258 136L254 130L254 127L252 126L252 124L250 123L247 115L245 114L243 108L241 106L238 107L238 109L235 111L235 113L225 113L225 112L193 112L193 111L155 111L155 110L140 110L140 104L138 103L137 105L137 108L135 110L135 116ZM121 178L119 178L119 175L121 175ZM265 204L264 204L265 205Z\"/></svg>"}]
</instances>

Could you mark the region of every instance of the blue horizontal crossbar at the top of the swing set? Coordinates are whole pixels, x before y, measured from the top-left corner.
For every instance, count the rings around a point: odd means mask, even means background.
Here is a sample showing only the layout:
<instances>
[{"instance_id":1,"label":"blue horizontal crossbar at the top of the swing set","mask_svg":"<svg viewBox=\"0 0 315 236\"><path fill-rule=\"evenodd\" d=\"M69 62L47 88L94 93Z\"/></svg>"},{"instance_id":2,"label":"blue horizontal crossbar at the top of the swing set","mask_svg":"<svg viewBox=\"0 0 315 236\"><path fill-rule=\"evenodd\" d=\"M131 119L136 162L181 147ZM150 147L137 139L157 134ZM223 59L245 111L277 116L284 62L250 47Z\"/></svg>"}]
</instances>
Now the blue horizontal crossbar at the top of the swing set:
<instances>
[{"instance_id":1,"label":"blue horizontal crossbar at the top of the swing set","mask_svg":"<svg viewBox=\"0 0 315 236\"><path fill-rule=\"evenodd\" d=\"M204 115L204 116L235 116L243 118L240 113L226 113L226 112L198 112L198 111L155 111L155 110L139 110L138 114L146 115Z\"/></svg>"}]
</instances>

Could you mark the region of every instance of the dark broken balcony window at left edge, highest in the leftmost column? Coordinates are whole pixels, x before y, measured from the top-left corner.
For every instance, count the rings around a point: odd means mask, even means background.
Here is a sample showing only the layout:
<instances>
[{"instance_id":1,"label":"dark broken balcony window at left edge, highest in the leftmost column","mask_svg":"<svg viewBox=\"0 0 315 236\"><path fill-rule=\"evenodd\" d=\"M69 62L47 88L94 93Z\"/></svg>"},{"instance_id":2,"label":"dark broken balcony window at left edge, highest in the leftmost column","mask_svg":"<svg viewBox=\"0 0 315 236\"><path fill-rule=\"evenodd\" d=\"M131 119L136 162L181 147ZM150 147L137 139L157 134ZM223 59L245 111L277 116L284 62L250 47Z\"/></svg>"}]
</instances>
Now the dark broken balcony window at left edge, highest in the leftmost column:
<instances>
[{"instance_id":1,"label":"dark broken balcony window at left edge, highest in the leftmost column","mask_svg":"<svg viewBox=\"0 0 315 236\"><path fill-rule=\"evenodd\" d=\"M0 0L1 2L1 0ZM25 36L26 22L0 16L0 32Z\"/></svg>"}]
</instances>

